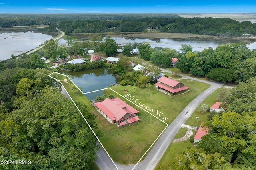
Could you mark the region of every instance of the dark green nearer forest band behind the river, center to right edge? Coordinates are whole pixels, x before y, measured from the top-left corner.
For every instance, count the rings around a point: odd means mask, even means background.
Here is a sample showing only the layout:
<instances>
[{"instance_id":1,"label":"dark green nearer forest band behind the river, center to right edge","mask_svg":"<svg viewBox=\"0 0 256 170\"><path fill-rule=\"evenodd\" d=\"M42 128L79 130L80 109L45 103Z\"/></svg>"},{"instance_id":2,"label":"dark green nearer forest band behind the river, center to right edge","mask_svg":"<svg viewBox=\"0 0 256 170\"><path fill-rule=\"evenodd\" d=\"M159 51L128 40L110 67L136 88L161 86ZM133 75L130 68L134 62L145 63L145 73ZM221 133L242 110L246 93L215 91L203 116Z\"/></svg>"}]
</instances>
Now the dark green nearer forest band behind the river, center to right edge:
<instances>
[{"instance_id":1,"label":"dark green nearer forest band behind the river, center to right edge","mask_svg":"<svg viewBox=\"0 0 256 170\"><path fill-rule=\"evenodd\" d=\"M140 18L118 21L61 21L60 29L69 33L142 32L156 30L168 33L194 33L220 37L249 37L256 35L256 23L229 18Z\"/></svg>"}]
</instances>

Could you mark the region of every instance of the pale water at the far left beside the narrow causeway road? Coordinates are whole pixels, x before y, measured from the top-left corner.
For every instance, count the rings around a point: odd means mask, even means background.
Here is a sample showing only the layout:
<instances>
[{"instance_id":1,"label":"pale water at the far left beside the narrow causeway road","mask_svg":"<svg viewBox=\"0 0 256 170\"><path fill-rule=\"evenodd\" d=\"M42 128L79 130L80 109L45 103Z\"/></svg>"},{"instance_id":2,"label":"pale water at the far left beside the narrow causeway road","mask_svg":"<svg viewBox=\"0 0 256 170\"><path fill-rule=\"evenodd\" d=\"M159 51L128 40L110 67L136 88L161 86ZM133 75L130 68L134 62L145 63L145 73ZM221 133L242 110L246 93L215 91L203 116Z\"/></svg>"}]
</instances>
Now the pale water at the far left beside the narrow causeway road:
<instances>
[{"instance_id":1,"label":"pale water at the far left beside the narrow causeway road","mask_svg":"<svg viewBox=\"0 0 256 170\"><path fill-rule=\"evenodd\" d=\"M46 40L50 40L54 34L36 33L34 31L15 31L0 33L0 60L7 60L11 55L20 55L30 51Z\"/></svg>"}]
</instances>

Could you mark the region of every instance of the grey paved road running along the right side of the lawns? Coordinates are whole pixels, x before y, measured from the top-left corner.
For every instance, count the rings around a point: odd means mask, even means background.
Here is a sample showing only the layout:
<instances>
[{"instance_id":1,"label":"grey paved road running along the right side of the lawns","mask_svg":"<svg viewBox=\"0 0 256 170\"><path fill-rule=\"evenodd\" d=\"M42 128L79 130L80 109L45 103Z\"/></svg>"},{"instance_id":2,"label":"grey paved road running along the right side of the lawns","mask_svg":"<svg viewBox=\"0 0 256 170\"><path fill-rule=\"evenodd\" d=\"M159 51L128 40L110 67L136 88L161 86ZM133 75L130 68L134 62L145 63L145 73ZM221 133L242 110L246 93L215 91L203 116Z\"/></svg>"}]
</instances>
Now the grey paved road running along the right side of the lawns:
<instances>
[{"instance_id":1,"label":"grey paved road running along the right side of the lawns","mask_svg":"<svg viewBox=\"0 0 256 170\"><path fill-rule=\"evenodd\" d=\"M146 63L142 63L146 65ZM172 73L169 70L165 70L163 68L160 68L164 72ZM116 164L118 166L119 170L154 170L154 168L157 166L159 160L163 156L166 149L169 147L170 143L172 142L174 136L176 133L180 130L182 125L187 121L188 117L192 115L192 113L195 111L195 109L202 103L202 101L209 96L212 92L214 92L216 89L220 88L222 86L221 83L216 82L208 82L205 80L200 80L197 78L192 78L185 75L180 75L184 78L188 78L191 80L204 82L207 84L210 84L211 86L204 90L200 95L198 95L192 102L188 104L188 106L185 107L184 110L174 119L174 121L167 127L167 129L164 131L164 133L161 135L161 137L158 139L158 141L155 143L154 147L150 150L146 158L138 163L136 167L135 165L125 166ZM231 88L229 86L226 86L228 88ZM107 157L106 152L98 152L98 155L100 156L96 160L96 164L99 166L101 170L114 170L116 169L112 162L110 162L110 158Z\"/></svg>"}]
</instances>

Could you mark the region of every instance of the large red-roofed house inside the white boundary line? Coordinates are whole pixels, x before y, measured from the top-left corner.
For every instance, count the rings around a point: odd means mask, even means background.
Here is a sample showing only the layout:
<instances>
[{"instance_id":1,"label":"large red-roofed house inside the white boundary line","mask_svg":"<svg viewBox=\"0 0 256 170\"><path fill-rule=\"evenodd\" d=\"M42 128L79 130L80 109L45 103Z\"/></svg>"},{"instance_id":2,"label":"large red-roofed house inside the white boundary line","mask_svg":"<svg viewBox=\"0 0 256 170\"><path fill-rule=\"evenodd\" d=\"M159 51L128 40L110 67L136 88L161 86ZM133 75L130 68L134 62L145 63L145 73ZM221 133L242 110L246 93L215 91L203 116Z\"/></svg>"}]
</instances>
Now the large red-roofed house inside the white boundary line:
<instances>
[{"instance_id":1,"label":"large red-roofed house inside the white boundary line","mask_svg":"<svg viewBox=\"0 0 256 170\"><path fill-rule=\"evenodd\" d=\"M140 122L138 115L136 115L139 111L120 98L106 98L102 102L94 103L94 106L118 129Z\"/></svg>"}]
</instances>

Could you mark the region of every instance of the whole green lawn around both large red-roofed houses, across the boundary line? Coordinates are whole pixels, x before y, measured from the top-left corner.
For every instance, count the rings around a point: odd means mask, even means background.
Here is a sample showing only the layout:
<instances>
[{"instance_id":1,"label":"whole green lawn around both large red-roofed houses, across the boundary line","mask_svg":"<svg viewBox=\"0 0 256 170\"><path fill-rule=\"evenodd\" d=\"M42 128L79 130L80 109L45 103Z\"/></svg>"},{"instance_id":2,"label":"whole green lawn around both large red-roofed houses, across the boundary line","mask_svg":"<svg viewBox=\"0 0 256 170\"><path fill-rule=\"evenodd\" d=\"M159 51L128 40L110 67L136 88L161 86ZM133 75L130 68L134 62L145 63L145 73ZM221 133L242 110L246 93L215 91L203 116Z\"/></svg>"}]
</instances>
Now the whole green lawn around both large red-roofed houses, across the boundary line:
<instances>
[{"instance_id":1,"label":"whole green lawn around both large red-roofed houses, across the boundary line","mask_svg":"<svg viewBox=\"0 0 256 170\"><path fill-rule=\"evenodd\" d=\"M134 96L132 102L135 102L137 99L137 104L141 102L141 104L144 104L143 106L148 106L154 109L154 111L150 111L150 113L160 119L156 119L156 117L146 113L146 111L143 111L126 100L128 104L139 111L138 115L140 117L140 123L118 130L100 113L98 113L98 111L96 111L96 109L90 104L90 101L83 94L71 90L72 86L74 85L70 81L65 82L63 80L66 79L66 76L61 76L59 74L54 75L61 80L62 84L65 86L73 100L86 104L92 113L96 115L99 130L102 132L100 141L106 150L108 150L111 158L120 164L135 164L166 127L166 124L160 120L165 121L168 124L172 123L172 121L184 109L184 107L187 106L187 104L189 104L196 96L210 86L202 82L182 79L181 82L184 83L185 86L190 87L190 91L177 96L168 96L158 91L154 87L150 89L150 92L147 88L141 88L139 90L139 88L136 87L137 91L135 94L132 92L132 88L134 86L111 87L122 96L125 95L124 90L128 90L128 93L131 94L130 100L132 100L132 96ZM116 97L124 99L110 89L105 90L104 94L106 93L114 94ZM161 112L161 116L159 116L159 114L157 115L157 111L158 113ZM126 150L124 145L128 141L132 145L129 150Z\"/></svg>"}]
</instances>

